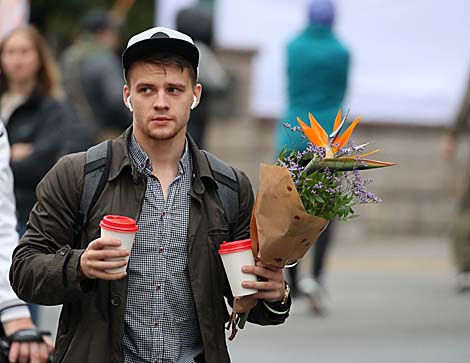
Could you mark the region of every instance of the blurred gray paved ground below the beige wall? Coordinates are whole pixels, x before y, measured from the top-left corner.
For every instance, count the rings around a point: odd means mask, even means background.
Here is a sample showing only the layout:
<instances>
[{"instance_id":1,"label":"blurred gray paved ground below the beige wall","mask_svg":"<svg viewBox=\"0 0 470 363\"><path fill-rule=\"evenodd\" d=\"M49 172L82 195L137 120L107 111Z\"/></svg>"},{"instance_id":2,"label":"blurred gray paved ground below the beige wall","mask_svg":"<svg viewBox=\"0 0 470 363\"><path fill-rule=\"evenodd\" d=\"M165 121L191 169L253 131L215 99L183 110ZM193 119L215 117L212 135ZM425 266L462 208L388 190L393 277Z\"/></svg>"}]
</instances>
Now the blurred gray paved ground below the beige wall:
<instances>
[{"instance_id":1,"label":"blurred gray paved ground below the beige wall","mask_svg":"<svg viewBox=\"0 0 470 363\"><path fill-rule=\"evenodd\" d=\"M233 362L470 362L470 294L454 291L445 240L337 243L328 294L325 317L298 299L283 326L247 325ZM48 308L43 325L56 319Z\"/></svg>"}]
</instances>

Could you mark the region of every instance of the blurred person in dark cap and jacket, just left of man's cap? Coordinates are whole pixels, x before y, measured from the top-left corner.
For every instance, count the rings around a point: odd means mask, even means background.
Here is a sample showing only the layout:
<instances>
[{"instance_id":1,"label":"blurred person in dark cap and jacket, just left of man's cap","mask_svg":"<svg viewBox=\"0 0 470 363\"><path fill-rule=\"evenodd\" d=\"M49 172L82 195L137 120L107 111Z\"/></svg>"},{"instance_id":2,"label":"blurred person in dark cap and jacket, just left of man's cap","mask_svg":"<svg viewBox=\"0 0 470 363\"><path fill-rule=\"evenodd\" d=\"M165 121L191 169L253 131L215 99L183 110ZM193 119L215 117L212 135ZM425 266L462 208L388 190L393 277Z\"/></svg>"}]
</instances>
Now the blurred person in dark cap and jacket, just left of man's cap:
<instances>
[{"instance_id":1,"label":"blurred person in dark cap and jacket, just left of man's cap","mask_svg":"<svg viewBox=\"0 0 470 363\"><path fill-rule=\"evenodd\" d=\"M104 8L94 8L81 26L82 33L61 57L64 88L95 141L114 138L132 121L122 101L124 78L115 52L121 20Z\"/></svg>"}]
</instances>

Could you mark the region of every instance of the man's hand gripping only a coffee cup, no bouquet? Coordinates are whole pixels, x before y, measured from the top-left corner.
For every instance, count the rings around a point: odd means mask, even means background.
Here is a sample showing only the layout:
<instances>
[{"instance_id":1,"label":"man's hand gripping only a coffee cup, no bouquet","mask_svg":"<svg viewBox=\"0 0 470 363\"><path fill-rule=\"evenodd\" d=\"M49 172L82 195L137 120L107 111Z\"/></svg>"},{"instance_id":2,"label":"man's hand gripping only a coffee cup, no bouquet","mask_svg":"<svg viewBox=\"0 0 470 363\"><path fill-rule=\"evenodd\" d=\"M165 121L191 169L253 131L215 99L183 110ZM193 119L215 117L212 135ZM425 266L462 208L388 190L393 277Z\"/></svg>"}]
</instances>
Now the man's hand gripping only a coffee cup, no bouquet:
<instances>
[{"instance_id":1,"label":"man's hand gripping only a coffee cup, no bouquet","mask_svg":"<svg viewBox=\"0 0 470 363\"><path fill-rule=\"evenodd\" d=\"M121 246L121 241L117 239L95 239L80 256L79 273L88 279L120 280L126 277L126 271L117 273L105 272L105 270L127 265L127 261L122 258L129 256L130 252L116 249L119 246ZM109 258L121 258L122 260L105 261Z\"/></svg>"}]
</instances>

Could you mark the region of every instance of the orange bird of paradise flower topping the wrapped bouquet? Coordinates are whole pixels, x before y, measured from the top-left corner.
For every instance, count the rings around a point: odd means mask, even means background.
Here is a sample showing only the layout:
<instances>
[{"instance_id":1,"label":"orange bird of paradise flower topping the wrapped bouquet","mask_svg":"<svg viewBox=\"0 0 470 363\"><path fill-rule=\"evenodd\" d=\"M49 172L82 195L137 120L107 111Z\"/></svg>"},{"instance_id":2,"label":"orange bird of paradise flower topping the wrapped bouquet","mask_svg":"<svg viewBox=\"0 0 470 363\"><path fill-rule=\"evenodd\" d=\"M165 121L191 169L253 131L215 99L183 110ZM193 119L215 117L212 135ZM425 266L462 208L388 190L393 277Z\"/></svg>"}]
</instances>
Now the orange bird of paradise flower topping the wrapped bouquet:
<instances>
[{"instance_id":1,"label":"orange bird of paradise flower topping the wrapped bouquet","mask_svg":"<svg viewBox=\"0 0 470 363\"><path fill-rule=\"evenodd\" d=\"M351 152L357 152L363 150L370 143L362 144L359 146L352 146L344 149L344 146L348 142L351 134L353 133L356 125L361 120L361 117L357 117L351 125L341 135L341 130L346 122L347 115L341 119L341 110L338 110L336 119L333 125L333 132L328 135L323 127L318 123L315 117L309 113L310 127L302 121L300 117L297 117L297 122L302 128L303 133L309 139L309 141L325 149L324 158L312 158L305 167L305 172L309 174L314 170L324 169L326 167L338 171L347 171L353 169L373 169L383 168L386 166L396 165L396 163L389 163L385 161L364 159L366 156L375 154L379 150L374 150L365 154L358 155L347 155ZM346 154L346 155L344 155Z\"/></svg>"}]
</instances>

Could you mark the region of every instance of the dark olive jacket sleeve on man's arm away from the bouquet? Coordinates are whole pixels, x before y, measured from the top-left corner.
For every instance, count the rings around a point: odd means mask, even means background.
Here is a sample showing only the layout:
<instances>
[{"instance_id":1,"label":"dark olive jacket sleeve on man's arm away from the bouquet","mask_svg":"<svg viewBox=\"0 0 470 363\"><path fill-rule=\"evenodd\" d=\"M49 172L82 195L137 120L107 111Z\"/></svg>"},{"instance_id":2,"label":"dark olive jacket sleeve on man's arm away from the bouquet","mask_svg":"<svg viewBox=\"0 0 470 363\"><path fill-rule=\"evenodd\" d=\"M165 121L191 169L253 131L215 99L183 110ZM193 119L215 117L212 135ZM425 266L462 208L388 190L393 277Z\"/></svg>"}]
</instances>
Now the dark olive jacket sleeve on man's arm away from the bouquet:
<instances>
[{"instance_id":1,"label":"dark olive jacket sleeve on man's arm away from the bouquet","mask_svg":"<svg viewBox=\"0 0 470 363\"><path fill-rule=\"evenodd\" d=\"M83 292L77 269L83 250L74 249L85 154L61 158L38 185L38 202L13 252L10 281L25 301L57 305Z\"/></svg>"}]
</instances>

